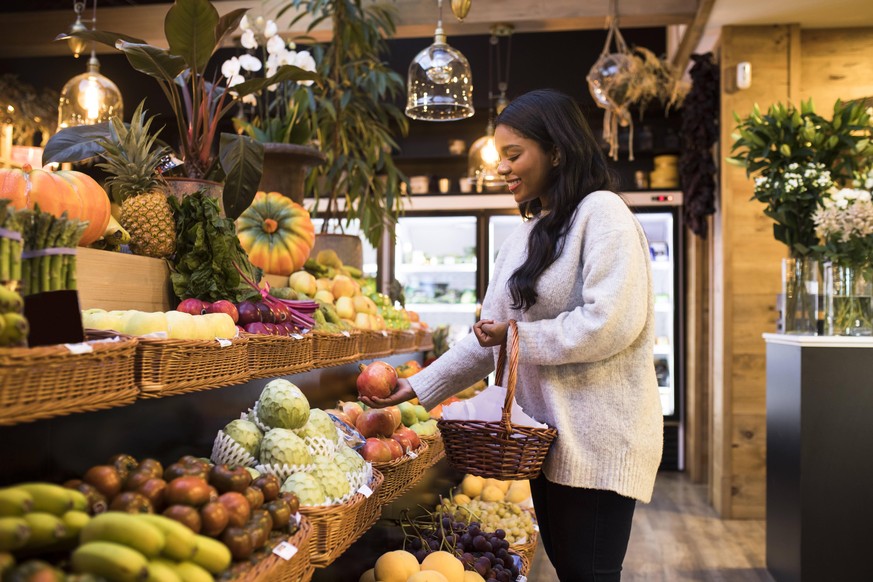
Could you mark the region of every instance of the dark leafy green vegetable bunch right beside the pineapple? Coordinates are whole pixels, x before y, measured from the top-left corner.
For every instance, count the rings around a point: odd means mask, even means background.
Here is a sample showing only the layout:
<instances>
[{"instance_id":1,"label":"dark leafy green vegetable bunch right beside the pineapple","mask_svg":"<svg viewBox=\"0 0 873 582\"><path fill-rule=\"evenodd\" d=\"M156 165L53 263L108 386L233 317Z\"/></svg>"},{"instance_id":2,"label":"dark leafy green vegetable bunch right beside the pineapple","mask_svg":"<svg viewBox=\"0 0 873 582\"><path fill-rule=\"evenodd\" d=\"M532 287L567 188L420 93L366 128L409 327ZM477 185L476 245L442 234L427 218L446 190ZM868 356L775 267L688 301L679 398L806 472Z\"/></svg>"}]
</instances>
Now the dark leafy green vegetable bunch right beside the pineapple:
<instances>
[{"instance_id":1,"label":"dark leafy green vegetable bunch right beside the pineapple","mask_svg":"<svg viewBox=\"0 0 873 582\"><path fill-rule=\"evenodd\" d=\"M263 272L249 262L229 218L219 214L218 201L202 191L181 203L170 198L176 218L176 252L170 260L170 280L179 299L203 301L257 299L259 293L243 281L234 264L252 281Z\"/></svg>"}]
</instances>

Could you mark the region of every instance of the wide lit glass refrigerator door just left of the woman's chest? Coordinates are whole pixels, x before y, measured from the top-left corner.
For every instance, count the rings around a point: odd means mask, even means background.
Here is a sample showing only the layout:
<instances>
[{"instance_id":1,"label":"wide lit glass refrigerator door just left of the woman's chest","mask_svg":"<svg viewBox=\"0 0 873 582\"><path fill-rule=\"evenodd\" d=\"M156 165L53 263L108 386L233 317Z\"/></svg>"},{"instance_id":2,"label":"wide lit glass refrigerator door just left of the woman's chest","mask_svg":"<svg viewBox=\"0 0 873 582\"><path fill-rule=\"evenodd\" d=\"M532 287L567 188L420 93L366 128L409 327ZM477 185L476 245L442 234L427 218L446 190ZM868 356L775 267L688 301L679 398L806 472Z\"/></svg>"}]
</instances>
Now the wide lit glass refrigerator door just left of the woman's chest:
<instances>
[{"instance_id":1,"label":"wide lit glass refrigerator door just left of the woman's chest","mask_svg":"<svg viewBox=\"0 0 873 582\"><path fill-rule=\"evenodd\" d=\"M432 328L476 322L476 217L405 216L397 221L394 273L406 308Z\"/></svg>"}]
</instances>

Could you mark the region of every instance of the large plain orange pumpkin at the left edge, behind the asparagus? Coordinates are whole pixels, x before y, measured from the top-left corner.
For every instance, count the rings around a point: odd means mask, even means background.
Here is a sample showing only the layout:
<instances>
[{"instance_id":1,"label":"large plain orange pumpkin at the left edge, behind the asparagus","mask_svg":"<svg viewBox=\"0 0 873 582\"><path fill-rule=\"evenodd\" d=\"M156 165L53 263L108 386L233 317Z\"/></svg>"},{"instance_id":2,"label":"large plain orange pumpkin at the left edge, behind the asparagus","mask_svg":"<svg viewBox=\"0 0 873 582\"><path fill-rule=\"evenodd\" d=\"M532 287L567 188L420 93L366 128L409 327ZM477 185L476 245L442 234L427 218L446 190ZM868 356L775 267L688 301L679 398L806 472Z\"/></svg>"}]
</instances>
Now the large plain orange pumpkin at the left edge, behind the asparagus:
<instances>
[{"instance_id":1,"label":"large plain orange pumpkin at the left edge, behind the asparagus","mask_svg":"<svg viewBox=\"0 0 873 582\"><path fill-rule=\"evenodd\" d=\"M60 216L89 222L79 244L87 246L106 232L109 225L109 196L100 184L87 174L74 170L48 172L23 169L0 169L0 198L8 198L18 209L33 208Z\"/></svg>"}]
</instances>

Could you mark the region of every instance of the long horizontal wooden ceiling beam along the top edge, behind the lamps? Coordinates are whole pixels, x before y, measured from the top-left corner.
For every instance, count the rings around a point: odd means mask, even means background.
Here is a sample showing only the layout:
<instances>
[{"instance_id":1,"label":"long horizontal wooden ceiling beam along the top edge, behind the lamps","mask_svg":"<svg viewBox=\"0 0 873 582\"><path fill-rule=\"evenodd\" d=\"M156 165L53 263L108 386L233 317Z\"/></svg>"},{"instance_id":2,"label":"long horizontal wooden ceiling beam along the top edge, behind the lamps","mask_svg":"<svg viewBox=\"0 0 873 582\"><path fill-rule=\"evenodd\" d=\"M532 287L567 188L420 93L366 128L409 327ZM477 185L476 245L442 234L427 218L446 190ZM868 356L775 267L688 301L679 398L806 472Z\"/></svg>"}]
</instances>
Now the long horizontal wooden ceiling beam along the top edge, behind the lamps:
<instances>
[{"instance_id":1,"label":"long horizontal wooden ceiling beam along the top edge, behind the lamps","mask_svg":"<svg viewBox=\"0 0 873 582\"><path fill-rule=\"evenodd\" d=\"M706 3L708 0L700 0ZM688 24L695 18L698 0L622 0L619 22L622 27L665 27ZM398 13L395 38L432 36L436 26L436 2L425 0L394 0ZM280 2L269 2L268 9L260 0L214 0L220 14L236 8L249 8L253 14L274 18ZM446 3L448 4L448 3ZM444 28L451 39L455 35L489 34L492 24L509 23L516 32L553 32L604 28L610 2L580 0L476 0L464 22L458 22L448 8L443 10ZM141 38L150 44L165 45L164 16L166 4L101 8L97 11L97 27ZM285 14L278 23L287 29L293 15ZM73 23L72 10L15 12L3 15L0 35L0 55L4 58L41 57L70 54L66 43L54 41ZM303 19L288 35L302 34L309 20ZM330 24L324 23L313 35L328 40ZM451 40L449 41L451 42ZM101 53L113 49L98 46Z\"/></svg>"}]
</instances>

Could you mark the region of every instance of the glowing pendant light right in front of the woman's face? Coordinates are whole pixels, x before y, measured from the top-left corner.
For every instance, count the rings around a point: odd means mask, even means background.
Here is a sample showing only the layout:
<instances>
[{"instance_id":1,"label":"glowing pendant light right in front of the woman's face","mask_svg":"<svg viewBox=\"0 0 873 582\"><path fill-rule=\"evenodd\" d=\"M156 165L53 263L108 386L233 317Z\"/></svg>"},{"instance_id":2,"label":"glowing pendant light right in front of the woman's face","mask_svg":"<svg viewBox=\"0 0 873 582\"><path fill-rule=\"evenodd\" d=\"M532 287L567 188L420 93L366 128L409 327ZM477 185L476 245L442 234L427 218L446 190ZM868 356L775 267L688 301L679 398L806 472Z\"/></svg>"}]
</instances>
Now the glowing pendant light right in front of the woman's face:
<instances>
[{"instance_id":1,"label":"glowing pendant light right in front of the woman's face","mask_svg":"<svg viewBox=\"0 0 873 582\"><path fill-rule=\"evenodd\" d=\"M473 184L476 192L493 188L503 188L503 177L497 173L497 165L500 163L500 154L494 144L494 117L509 104L506 91L509 89L509 58L511 56L511 24L496 24L491 27L491 38L488 50L488 125L485 135L477 139L470 146L467 154L467 177ZM506 38L506 58L500 54L500 39ZM503 69L505 62L505 70ZM493 90L494 70L497 70L497 90Z\"/></svg>"}]
</instances>

